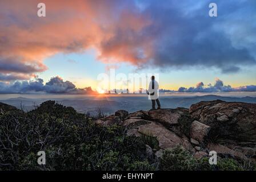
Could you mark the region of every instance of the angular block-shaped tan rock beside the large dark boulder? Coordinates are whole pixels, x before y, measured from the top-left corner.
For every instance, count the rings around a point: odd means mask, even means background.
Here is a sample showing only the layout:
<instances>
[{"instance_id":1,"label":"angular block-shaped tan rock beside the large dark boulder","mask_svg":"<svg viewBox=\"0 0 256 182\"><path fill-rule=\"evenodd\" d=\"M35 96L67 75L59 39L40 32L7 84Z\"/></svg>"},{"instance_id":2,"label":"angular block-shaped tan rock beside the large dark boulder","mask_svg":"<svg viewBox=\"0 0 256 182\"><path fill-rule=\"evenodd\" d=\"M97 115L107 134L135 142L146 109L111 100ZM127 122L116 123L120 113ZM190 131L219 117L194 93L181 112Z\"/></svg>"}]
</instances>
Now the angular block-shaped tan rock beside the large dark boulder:
<instances>
[{"instance_id":1,"label":"angular block-shaped tan rock beside the large dark boulder","mask_svg":"<svg viewBox=\"0 0 256 182\"><path fill-rule=\"evenodd\" d=\"M206 136L208 135L210 126L207 126L201 122L193 121L190 129L190 137L203 143Z\"/></svg>"}]
</instances>

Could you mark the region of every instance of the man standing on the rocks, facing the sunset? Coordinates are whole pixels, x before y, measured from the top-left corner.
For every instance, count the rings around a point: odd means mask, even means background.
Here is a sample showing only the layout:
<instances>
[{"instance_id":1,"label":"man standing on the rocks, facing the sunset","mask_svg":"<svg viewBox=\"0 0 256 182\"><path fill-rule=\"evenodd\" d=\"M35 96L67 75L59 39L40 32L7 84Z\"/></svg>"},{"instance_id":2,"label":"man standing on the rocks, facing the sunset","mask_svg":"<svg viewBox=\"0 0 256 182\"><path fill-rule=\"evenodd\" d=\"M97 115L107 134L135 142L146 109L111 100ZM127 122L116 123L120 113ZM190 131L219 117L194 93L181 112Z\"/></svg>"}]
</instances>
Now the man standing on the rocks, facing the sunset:
<instances>
[{"instance_id":1,"label":"man standing on the rocks, facing the sunset","mask_svg":"<svg viewBox=\"0 0 256 182\"><path fill-rule=\"evenodd\" d=\"M161 109L161 105L160 102L158 100L159 97L159 88L158 88L158 82L155 81L155 76L151 76L151 81L149 84L149 92L147 92L147 94L149 95L149 99L152 102L152 109L151 110L155 110L155 101L157 101L157 109Z\"/></svg>"}]
</instances>

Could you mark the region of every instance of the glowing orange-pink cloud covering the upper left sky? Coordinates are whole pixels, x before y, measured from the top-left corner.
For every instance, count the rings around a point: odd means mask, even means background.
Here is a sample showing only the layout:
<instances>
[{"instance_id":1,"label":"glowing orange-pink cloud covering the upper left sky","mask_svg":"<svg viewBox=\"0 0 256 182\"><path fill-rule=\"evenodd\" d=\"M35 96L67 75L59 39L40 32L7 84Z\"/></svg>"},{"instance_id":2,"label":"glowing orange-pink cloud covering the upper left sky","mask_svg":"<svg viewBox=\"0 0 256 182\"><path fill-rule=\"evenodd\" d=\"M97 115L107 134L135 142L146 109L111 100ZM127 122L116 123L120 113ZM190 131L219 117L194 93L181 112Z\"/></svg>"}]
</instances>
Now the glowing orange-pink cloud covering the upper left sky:
<instances>
[{"instance_id":1,"label":"glowing orange-pink cloud covering the upper left sky","mask_svg":"<svg viewBox=\"0 0 256 182\"><path fill-rule=\"evenodd\" d=\"M43 18L37 16L39 1L0 2L0 65L16 64L1 67L3 73L43 72L46 57L89 47L105 62L138 64L150 56L150 39L140 35L150 21L130 1L43 2Z\"/></svg>"}]
</instances>

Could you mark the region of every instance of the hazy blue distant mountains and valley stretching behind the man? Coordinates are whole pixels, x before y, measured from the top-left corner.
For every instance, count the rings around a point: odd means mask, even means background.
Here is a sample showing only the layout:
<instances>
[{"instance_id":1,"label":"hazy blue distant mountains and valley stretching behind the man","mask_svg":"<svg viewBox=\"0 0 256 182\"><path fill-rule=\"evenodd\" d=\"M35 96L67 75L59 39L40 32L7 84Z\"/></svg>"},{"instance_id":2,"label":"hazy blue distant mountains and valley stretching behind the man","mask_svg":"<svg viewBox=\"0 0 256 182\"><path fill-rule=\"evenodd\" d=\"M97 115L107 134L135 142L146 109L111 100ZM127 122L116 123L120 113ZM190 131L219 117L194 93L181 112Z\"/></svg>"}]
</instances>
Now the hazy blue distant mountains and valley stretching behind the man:
<instances>
[{"instance_id":1,"label":"hazy blue distant mountains and valley stretching behind the man","mask_svg":"<svg viewBox=\"0 0 256 182\"><path fill-rule=\"evenodd\" d=\"M176 107L186 107L189 108L192 104L200 101L214 101L222 100L227 102L247 102L256 104L255 97L223 97L216 96L213 94L207 96L194 96L194 97L177 97L177 96L165 96L160 95L160 102L162 108L176 108ZM20 109L29 111L35 109L43 101L49 99L30 99L24 97L10 98L8 100L3 100L5 104L13 105ZM54 99L53 99L54 100ZM111 96L102 98L102 100L95 100L93 98L87 100L77 100L77 99L65 99L65 100L55 100L59 104L65 106L74 107L79 113L91 113L96 114L99 110L105 114L113 114L116 110L124 109L129 112L137 110L149 110L151 108L151 101L147 99L146 96Z\"/></svg>"}]
</instances>

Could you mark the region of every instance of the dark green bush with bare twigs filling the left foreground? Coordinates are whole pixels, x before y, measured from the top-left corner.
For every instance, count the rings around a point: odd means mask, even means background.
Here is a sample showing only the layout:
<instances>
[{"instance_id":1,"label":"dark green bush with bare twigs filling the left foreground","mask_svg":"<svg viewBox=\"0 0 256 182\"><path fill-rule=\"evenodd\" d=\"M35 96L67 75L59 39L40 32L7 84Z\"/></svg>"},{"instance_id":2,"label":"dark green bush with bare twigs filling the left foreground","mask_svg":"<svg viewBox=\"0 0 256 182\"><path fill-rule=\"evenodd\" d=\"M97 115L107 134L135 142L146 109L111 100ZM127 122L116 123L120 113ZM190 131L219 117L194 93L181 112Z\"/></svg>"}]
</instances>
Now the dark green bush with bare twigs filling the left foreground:
<instances>
[{"instance_id":1,"label":"dark green bush with bare twigs filling the left foreground","mask_svg":"<svg viewBox=\"0 0 256 182\"><path fill-rule=\"evenodd\" d=\"M0 117L0 170L147 170L146 143L121 126L102 127L72 107L43 102ZM37 152L46 152L46 165Z\"/></svg>"}]
</instances>

